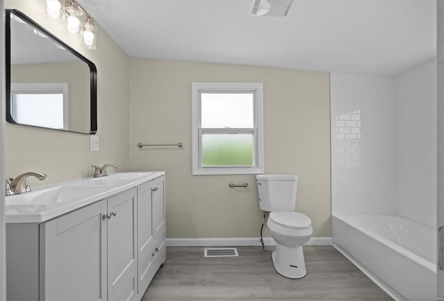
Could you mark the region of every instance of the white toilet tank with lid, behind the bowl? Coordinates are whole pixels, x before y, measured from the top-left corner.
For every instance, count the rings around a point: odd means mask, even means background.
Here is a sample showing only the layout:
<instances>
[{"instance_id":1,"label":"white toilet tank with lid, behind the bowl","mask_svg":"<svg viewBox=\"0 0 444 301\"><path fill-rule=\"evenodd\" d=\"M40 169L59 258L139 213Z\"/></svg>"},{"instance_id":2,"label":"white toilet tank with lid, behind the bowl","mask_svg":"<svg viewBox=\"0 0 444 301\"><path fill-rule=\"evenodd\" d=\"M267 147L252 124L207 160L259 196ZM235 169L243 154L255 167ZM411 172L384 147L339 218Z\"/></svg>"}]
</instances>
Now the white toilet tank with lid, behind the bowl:
<instances>
[{"instance_id":1,"label":"white toilet tank with lid, behind the bowl","mask_svg":"<svg viewBox=\"0 0 444 301\"><path fill-rule=\"evenodd\" d=\"M299 176L296 174L258 174L257 193L262 211L294 211Z\"/></svg>"}]
</instances>

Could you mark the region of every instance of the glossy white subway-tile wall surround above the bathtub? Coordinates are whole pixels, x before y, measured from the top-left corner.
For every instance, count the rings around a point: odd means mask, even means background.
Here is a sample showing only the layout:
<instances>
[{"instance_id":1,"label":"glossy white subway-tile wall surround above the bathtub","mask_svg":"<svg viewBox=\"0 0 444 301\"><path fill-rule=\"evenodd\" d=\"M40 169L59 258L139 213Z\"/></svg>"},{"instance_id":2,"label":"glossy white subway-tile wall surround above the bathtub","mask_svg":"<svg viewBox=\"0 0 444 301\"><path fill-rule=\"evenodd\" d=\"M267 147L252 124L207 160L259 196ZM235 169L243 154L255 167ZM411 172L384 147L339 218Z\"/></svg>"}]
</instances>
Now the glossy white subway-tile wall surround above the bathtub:
<instances>
[{"instance_id":1,"label":"glossy white subway-tile wall surround above the bathtub","mask_svg":"<svg viewBox=\"0 0 444 301\"><path fill-rule=\"evenodd\" d=\"M436 225L436 60L404 73L331 73L332 213Z\"/></svg>"}]
</instances>

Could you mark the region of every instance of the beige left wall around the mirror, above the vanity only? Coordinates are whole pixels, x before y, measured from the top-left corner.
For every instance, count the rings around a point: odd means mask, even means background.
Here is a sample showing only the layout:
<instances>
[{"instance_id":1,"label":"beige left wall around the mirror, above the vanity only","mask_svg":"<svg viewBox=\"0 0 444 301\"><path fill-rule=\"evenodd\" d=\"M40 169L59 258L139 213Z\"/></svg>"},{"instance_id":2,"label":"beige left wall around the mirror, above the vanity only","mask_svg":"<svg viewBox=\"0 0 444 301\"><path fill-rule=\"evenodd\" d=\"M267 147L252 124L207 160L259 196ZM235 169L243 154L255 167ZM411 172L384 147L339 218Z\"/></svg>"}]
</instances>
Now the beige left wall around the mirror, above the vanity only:
<instances>
[{"instance_id":1,"label":"beige left wall around the mirror, above the vanity only","mask_svg":"<svg viewBox=\"0 0 444 301\"><path fill-rule=\"evenodd\" d=\"M40 183L31 179L31 185L43 185L92 175L92 164L112 162L128 170L128 55L101 28L97 50L81 48L61 24L42 17L41 1L6 0L6 8L21 10L96 64L100 138L100 152L89 152L89 135L7 124L6 176L40 171L48 178Z\"/></svg>"}]
</instances>

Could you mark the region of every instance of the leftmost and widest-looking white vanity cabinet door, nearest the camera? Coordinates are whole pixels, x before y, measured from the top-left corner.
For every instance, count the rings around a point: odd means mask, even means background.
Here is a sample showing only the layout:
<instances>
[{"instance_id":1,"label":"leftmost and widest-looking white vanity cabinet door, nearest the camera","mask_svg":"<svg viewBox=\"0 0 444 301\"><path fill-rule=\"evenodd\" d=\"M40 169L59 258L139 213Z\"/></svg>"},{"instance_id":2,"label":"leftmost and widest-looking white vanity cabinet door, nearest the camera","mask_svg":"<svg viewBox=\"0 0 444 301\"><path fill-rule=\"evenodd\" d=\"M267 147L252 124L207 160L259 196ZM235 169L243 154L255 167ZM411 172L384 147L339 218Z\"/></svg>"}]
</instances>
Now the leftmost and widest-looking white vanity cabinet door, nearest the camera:
<instances>
[{"instance_id":1,"label":"leftmost and widest-looking white vanity cabinet door, nearest the camera","mask_svg":"<svg viewBox=\"0 0 444 301\"><path fill-rule=\"evenodd\" d=\"M40 225L40 300L107 300L106 201Z\"/></svg>"}]
</instances>

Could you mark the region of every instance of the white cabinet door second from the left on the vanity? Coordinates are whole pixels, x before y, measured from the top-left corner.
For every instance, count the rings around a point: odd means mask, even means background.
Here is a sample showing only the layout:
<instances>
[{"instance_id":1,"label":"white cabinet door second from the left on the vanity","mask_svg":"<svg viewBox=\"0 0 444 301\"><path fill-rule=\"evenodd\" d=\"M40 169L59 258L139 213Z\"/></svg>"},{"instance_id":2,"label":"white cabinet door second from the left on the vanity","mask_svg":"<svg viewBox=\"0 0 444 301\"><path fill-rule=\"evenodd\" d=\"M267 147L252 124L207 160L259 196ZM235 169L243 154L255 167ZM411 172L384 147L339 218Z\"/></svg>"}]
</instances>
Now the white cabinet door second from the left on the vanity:
<instances>
[{"instance_id":1,"label":"white cabinet door second from the left on the vanity","mask_svg":"<svg viewBox=\"0 0 444 301\"><path fill-rule=\"evenodd\" d=\"M108 199L108 300L125 284L134 278L137 262L136 189L131 189ZM135 289L135 286L133 286ZM132 300L135 298L132 292Z\"/></svg>"}]
</instances>

